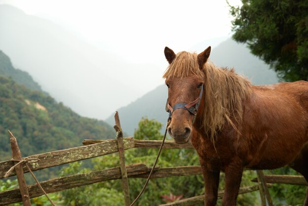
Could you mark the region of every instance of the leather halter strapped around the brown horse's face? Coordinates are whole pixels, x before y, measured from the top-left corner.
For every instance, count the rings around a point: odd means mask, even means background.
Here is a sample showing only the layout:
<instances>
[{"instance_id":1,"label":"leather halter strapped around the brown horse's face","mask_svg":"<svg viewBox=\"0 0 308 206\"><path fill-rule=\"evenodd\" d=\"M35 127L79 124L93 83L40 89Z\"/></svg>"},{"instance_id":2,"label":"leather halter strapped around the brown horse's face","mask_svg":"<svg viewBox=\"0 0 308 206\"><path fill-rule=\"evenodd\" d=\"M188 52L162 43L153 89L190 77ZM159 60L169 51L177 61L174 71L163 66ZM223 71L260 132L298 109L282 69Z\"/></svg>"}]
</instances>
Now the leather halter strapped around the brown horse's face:
<instances>
[{"instance_id":1,"label":"leather halter strapped around the brown horse's face","mask_svg":"<svg viewBox=\"0 0 308 206\"><path fill-rule=\"evenodd\" d=\"M169 118L171 119L172 113L176 109L184 109L184 110L187 110L190 114L192 114L194 116L193 119L192 119L192 124L193 124L194 121L195 121L196 115L197 115L197 110L198 110L199 105L200 105L202 93L203 93L203 85L201 86L199 97L197 99L195 99L194 101L188 103L188 104L181 102L181 103L176 103L175 105L173 105L173 107L171 107L168 100L167 100L166 112L169 113Z\"/></svg>"}]
</instances>

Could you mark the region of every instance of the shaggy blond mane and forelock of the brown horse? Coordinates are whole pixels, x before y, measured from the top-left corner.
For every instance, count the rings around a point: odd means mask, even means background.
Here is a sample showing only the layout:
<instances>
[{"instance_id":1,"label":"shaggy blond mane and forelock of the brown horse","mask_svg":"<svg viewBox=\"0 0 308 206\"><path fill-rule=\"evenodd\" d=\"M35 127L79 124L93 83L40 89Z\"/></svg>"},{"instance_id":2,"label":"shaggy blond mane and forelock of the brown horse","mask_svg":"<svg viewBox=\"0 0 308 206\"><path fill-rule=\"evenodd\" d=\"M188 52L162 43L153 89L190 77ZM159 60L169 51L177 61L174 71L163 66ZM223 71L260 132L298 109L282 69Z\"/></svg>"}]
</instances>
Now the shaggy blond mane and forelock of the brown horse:
<instances>
[{"instance_id":1,"label":"shaggy blond mane and forelock of the brown horse","mask_svg":"<svg viewBox=\"0 0 308 206\"><path fill-rule=\"evenodd\" d=\"M200 68L197 57L196 53L178 53L163 78L184 78L191 75L204 77L202 125L206 134L215 141L217 132L223 128L225 122L238 131L236 125L242 121L243 103L250 96L251 84L246 78L236 74L233 68L218 68L210 61Z\"/></svg>"}]
</instances>

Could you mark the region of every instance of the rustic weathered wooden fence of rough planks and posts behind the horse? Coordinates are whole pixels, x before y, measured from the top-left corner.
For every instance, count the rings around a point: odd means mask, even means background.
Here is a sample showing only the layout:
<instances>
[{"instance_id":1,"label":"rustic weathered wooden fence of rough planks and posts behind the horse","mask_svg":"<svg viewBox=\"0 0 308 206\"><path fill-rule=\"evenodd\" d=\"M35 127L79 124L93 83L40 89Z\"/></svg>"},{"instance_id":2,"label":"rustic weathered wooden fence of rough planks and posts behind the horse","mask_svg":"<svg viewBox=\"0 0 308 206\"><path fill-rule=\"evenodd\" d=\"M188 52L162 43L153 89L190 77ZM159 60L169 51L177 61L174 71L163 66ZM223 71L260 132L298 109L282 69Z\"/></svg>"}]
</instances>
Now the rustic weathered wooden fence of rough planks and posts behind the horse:
<instances>
[{"instance_id":1,"label":"rustic weathered wooden fence of rough planks and posts behind the horse","mask_svg":"<svg viewBox=\"0 0 308 206\"><path fill-rule=\"evenodd\" d=\"M117 113L116 113L117 116ZM44 168L54 167L58 165L63 165L79 160L84 160L92 157L107 155L115 152L119 152L120 155L120 166L109 168L101 171L93 171L89 173L70 175L66 177L53 178L47 181L40 182L41 186L44 188L46 193L59 192L65 189L70 189L74 187L79 187L83 185L89 185L95 182L107 181L112 179L122 179L123 181L123 191L125 205L129 205L129 188L127 178L147 178L151 168L147 167L142 163L136 163L132 165L125 165L124 160L124 150L130 148L159 148L161 141L150 141L150 140L135 140L132 137L123 138L122 129L119 119L116 117L116 126L117 139L116 140L85 140L82 147L74 147L69 149L63 149L58 151L46 152L41 154L31 155L22 159L39 159L39 162L28 163L31 171L37 171ZM118 121L118 122L117 122ZM17 143L16 143L17 144ZM172 141L165 141L163 146L165 149L174 149L174 148L193 148L190 144L181 144L178 145ZM16 164L16 163L15 163ZM14 166L12 160L7 160L0 162L0 179L4 178L5 173ZM24 165L21 166L23 173L28 173L29 169ZM201 175L200 166L182 166L182 167L168 167L168 168L156 168L151 178L159 177L172 177L172 176L189 176L189 175ZM16 172L13 171L9 176L16 175ZM23 176L23 175L22 175ZM262 179L260 179L262 178ZM125 180L126 179L126 180ZM240 188L240 194L252 192L258 189L267 190L271 185L267 183L285 183L285 184L300 184L307 185L307 182L302 176L265 176L259 177L259 184ZM265 179L265 181L263 180ZM253 179L253 181L258 181ZM263 186L262 186L263 183ZM29 193L30 198L38 197L43 195L42 190L37 184L26 185L26 190ZM261 192L261 191L260 191ZM265 191L266 193L266 191ZM17 202L25 201L21 195L19 188L7 190L0 192L0 205L7 205ZM266 198L266 194L260 193L261 197ZM221 198L223 191L219 191L218 198ZM268 198L268 197L267 197ZM262 199L262 198L261 198ZM269 200L268 200L269 201ZM176 203L166 204L169 205L178 205L178 206L187 206L194 205L197 203L204 202L204 195L187 198ZM24 202L25 203L25 202ZM264 204L264 203L262 203ZM266 204L266 203L265 203Z\"/></svg>"}]
</instances>

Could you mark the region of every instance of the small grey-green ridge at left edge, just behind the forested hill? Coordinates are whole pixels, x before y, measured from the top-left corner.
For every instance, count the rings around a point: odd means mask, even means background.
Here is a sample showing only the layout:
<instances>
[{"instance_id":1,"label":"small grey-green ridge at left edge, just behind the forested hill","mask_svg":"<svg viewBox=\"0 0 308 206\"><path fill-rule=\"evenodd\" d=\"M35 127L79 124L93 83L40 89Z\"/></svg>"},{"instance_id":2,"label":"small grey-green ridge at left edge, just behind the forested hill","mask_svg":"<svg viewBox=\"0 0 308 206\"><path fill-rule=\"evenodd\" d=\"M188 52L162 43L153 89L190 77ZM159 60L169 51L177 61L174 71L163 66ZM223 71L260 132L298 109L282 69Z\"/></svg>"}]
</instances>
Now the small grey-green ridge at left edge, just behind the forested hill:
<instances>
[{"instance_id":1,"label":"small grey-green ridge at left edge, just behind the forested hill","mask_svg":"<svg viewBox=\"0 0 308 206\"><path fill-rule=\"evenodd\" d=\"M24 85L32 90L42 91L41 87L33 81L25 71L15 69L9 57L0 50L0 75L11 77L16 83Z\"/></svg>"}]
</instances>

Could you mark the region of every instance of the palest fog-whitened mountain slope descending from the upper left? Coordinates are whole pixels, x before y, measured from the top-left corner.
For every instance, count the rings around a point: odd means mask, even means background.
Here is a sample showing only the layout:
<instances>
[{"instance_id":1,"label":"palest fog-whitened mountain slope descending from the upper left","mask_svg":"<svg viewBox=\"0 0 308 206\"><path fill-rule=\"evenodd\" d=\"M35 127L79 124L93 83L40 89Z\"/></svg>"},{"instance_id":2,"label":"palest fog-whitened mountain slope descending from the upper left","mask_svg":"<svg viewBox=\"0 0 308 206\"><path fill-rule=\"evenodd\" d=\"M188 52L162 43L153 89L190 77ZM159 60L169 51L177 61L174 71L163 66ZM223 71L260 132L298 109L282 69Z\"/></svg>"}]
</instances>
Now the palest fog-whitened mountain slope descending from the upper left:
<instances>
[{"instance_id":1,"label":"palest fog-whitened mountain slope descending from the upper left","mask_svg":"<svg viewBox=\"0 0 308 206\"><path fill-rule=\"evenodd\" d=\"M157 72L155 65L129 63L10 5L0 5L0 31L0 50L13 65L82 116L106 118L161 81L144 78ZM132 76L139 80L131 81Z\"/></svg>"}]
</instances>

